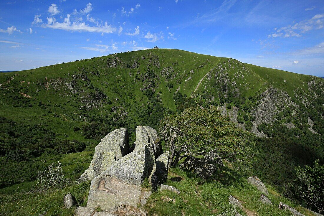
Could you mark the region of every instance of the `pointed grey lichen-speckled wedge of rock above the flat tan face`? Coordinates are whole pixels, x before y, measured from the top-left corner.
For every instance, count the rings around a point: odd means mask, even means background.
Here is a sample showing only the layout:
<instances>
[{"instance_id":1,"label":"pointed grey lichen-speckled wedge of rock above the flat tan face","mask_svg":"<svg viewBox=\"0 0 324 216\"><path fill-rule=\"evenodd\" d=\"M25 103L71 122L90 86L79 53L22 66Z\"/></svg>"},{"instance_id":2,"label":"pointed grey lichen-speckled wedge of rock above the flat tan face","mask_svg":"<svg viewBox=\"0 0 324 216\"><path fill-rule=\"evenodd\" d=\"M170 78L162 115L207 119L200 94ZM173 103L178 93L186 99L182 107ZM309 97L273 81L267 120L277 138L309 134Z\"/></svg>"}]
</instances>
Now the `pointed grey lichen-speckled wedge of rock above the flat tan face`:
<instances>
[{"instance_id":1,"label":"pointed grey lichen-speckled wedge of rock above the flat tan face","mask_svg":"<svg viewBox=\"0 0 324 216\"><path fill-rule=\"evenodd\" d=\"M154 150L152 145L148 144L124 156L102 174L113 176L127 184L141 186L144 179L150 176L154 164Z\"/></svg>"}]
</instances>

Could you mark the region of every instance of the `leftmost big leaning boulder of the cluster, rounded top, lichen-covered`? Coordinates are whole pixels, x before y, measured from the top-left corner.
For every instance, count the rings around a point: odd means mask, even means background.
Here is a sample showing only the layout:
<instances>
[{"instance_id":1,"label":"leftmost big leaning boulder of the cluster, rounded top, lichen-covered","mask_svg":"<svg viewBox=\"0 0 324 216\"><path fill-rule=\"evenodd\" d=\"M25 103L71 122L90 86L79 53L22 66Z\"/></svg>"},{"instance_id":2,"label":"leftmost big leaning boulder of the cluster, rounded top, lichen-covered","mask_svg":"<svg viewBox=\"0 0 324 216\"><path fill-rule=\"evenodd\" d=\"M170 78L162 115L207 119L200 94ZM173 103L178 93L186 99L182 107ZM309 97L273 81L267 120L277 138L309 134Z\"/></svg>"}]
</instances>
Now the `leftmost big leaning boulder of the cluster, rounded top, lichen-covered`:
<instances>
[{"instance_id":1,"label":"leftmost big leaning boulder of the cluster, rounded top, lichen-covered","mask_svg":"<svg viewBox=\"0 0 324 216\"><path fill-rule=\"evenodd\" d=\"M89 168L80 176L79 181L94 179L121 159L129 150L127 128L116 129L101 139Z\"/></svg>"}]
</instances>

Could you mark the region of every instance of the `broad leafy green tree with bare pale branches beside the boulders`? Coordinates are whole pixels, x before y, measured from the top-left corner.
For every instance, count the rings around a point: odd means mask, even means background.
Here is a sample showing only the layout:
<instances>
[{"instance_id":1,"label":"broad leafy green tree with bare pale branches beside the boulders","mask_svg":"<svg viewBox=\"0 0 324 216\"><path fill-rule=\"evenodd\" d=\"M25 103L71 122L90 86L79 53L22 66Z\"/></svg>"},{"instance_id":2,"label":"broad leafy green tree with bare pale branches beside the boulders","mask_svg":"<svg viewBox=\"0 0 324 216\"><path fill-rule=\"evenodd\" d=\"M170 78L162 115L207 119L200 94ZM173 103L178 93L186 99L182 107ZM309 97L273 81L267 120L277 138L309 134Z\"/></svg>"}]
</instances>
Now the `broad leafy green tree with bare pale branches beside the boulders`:
<instances>
[{"instance_id":1,"label":"broad leafy green tree with bare pale branches beside the boulders","mask_svg":"<svg viewBox=\"0 0 324 216\"><path fill-rule=\"evenodd\" d=\"M187 108L180 114L168 115L161 121L158 132L170 151L168 168L182 157L247 164L253 156L254 135L226 121L214 107Z\"/></svg>"}]
</instances>

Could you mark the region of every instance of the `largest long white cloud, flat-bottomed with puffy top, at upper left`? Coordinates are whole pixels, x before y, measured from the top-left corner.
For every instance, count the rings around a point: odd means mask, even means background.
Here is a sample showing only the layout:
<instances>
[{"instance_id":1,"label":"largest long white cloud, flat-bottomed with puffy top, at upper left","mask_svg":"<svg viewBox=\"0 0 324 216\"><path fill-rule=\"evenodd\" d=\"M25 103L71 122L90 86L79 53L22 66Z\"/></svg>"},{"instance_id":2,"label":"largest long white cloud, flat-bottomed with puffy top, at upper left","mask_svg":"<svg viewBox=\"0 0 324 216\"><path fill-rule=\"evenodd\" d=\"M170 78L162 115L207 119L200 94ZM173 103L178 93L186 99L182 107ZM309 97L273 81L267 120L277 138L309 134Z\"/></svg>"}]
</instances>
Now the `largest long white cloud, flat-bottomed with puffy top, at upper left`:
<instances>
[{"instance_id":1,"label":"largest long white cloud, flat-bottomed with puffy top, at upper left","mask_svg":"<svg viewBox=\"0 0 324 216\"><path fill-rule=\"evenodd\" d=\"M51 29L61 29L66 31L87 31L87 32L101 32L101 33L113 33L116 31L115 27L108 25L107 22L105 24L97 25L97 26L89 26L88 24L82 22L70 22L71 15L68 14L66 18L64 18L64 22L56 22L53 18L47 18L49 20L48 24L43 24L43 28L51 28ZM51 22L50 22L51 20Z\"/></svg>"}]
</instances>

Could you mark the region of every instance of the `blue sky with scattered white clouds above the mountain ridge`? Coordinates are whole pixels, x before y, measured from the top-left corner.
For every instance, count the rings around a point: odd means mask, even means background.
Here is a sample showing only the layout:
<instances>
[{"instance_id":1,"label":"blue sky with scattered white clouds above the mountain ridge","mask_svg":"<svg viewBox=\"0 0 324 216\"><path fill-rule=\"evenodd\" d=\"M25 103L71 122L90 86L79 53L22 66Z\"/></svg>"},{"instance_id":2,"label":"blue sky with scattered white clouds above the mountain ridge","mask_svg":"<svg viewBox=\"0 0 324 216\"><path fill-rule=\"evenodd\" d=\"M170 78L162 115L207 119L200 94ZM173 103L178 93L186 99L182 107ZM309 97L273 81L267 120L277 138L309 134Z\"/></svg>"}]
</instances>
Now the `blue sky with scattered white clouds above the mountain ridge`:
<instances>
[{"instance_id":1,"label":"blue sky with scattered white clouds above the mountain ridge","mask_svg":"<svg viewBox=\"0 0 324 216\"><path fill-rule=\"evenodd\" d=\"M154 46L324 77L324 1L0 3L0 70Z\"/></svg>"}]
</instances>

